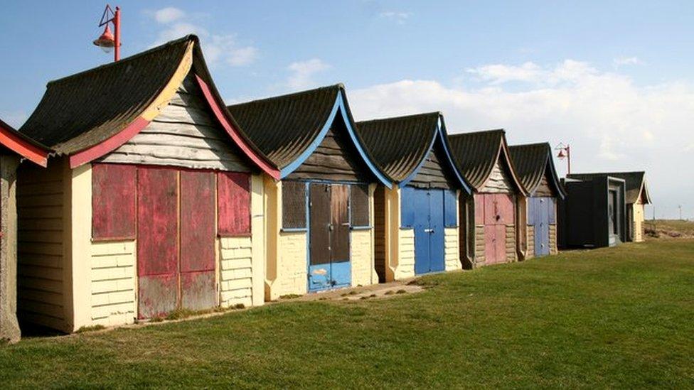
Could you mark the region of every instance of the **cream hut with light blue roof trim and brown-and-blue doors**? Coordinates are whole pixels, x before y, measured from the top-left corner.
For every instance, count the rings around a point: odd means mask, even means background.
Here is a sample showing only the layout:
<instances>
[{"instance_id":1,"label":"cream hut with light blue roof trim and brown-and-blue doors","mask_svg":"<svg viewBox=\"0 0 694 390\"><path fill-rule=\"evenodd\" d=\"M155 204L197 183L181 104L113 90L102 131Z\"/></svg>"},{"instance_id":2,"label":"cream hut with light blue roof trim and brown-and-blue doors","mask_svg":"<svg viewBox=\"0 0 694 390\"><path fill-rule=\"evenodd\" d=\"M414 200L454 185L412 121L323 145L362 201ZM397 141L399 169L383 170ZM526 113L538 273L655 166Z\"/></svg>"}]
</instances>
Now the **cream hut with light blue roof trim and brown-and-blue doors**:
<instances>
[{"instance_id":1,"label":"cream hut with light blue roof trim and brown-and-blue doors","mask_svg":"<svg viewBox=\"0 0 694 390\"><path fill-rule=\"evenodd\" d=\"M343 85L229 106L279 170L267 178L266 298L375 283L373 192L388 178Z\"/></svg>"}]
</instances>

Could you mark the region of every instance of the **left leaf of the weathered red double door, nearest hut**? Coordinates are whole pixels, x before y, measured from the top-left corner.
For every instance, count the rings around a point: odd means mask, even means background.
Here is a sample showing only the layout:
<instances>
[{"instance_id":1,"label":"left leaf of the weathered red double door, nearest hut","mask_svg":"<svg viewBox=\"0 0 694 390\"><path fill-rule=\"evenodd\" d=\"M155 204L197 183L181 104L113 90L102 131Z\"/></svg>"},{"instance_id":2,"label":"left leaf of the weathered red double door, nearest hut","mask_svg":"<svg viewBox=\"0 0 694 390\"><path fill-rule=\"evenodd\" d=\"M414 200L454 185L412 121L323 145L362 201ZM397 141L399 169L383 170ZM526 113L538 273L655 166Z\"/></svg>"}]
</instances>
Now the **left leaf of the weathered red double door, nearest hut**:
<instances>
[{"instance_id":1,"label":"left leaf of the weathered red double door, nearest hut","mask_svg":"<svg viewBox=\"0 0 694 390\"><path fill-rule=\"evenodd\" d=\"M169 313L178 301L178 172L137 170L138 317Z\"/></svg>"}]
</instances>

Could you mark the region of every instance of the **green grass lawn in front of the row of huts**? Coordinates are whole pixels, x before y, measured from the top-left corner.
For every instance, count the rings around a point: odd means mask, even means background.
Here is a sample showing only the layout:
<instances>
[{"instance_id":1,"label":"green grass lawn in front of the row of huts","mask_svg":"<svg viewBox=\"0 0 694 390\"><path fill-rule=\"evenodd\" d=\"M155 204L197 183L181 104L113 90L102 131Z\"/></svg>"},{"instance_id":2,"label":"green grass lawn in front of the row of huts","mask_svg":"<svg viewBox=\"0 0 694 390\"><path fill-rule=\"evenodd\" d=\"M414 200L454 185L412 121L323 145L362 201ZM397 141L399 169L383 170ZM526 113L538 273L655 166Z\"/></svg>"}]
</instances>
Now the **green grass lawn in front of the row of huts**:
<instances>
[{"instance_id":1,"label":"green grass lawn in front of the row of huts","mask_svg":"<svg viewBox=\"0 0 694 390\"><path fill-rule=\"evenodd\" d=\"M694 240L422 283L393 298L23 340L0 347L0 384L694 387Z\"/></svg>"}]
</instances>

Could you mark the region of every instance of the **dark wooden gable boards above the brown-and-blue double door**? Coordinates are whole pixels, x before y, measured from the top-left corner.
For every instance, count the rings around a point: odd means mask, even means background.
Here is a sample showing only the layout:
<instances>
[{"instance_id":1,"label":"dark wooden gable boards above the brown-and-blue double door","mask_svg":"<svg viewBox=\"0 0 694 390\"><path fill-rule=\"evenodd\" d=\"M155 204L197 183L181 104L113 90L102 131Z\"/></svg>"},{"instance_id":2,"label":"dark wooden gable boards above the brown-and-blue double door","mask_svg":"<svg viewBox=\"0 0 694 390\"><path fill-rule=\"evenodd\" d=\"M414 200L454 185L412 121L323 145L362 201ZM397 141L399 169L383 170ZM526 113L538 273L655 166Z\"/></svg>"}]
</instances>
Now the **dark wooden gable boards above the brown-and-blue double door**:
<instances>
[{"instance_id":1,"label":"dark wooden gable boards above the brown-and-blue double door","mask_svg":"<svg viewBox=\"0 0 694 390\"><path fill-rule=\"evenodd\" d=\"M373 181L341 121L333 124L314 153L287 178Z\"/></svg>"}]
</instances>

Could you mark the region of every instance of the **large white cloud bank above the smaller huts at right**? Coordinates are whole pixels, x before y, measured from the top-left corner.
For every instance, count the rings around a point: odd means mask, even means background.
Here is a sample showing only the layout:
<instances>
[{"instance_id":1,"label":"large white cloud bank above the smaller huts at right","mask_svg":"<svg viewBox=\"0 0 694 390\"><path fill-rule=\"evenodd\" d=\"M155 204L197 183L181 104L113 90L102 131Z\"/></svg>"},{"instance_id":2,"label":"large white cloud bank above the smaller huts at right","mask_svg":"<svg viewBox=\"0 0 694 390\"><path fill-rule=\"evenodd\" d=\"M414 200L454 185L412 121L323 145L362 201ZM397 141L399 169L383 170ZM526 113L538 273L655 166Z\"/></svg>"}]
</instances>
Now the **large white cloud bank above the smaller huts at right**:
<instances>
[{"instance_id":1,"label":"large white cloud bank above the smaller huts at right","mask_svg":"<svg viewBox=\"0 0 694 390\"><path fill-rule=\"evenodd\" d=\"M449 133L501 127L511 143L570 143L573 171L646 170L658 215L679 203L694 215L694 184L682 180L681 169L694 166L694 85L637 86L576 60L489 66L475 68L485 75L480 87L400 80L351 90L353 114L364 120L442 110ZM502 80L525 87L508 89ZM557 168L565 172L565 163Z\"/></svg>"}]
</instances>

